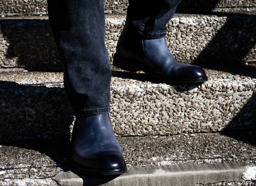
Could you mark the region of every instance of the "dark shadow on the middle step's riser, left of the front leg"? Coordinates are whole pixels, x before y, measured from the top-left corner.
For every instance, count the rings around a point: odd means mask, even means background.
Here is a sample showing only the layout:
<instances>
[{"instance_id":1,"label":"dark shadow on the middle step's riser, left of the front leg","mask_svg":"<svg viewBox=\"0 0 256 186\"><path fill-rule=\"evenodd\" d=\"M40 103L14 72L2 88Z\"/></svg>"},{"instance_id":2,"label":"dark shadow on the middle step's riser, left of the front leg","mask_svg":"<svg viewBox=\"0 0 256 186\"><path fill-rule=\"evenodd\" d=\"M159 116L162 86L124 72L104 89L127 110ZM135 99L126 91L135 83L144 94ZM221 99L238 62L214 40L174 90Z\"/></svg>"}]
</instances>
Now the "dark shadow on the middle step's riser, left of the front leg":
<instances>
[{"instance_id":1,"label":"dark shadow on the middle step's riser, left of the front leg","mask_svg":"<svg viewBox=\"0 0 256 186\"><path fill-rule=\"evenodd\" d=\"M73 115L64 88L0 81L0 141L69 138Z\"/></svg>"}]
</instances>

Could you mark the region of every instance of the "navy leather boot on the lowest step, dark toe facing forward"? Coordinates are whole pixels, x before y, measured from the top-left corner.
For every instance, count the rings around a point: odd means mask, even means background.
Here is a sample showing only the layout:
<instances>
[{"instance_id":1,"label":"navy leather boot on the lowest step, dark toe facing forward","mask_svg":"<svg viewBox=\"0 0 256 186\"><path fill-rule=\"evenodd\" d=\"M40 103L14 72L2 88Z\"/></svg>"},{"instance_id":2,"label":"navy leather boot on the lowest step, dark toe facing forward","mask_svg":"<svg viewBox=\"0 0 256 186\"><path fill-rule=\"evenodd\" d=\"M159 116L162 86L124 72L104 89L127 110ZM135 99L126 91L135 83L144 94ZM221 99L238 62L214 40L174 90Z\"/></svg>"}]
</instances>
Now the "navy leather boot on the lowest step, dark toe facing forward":
<instances>
[{"instance_id":1,"label":"navy leather boot on the lowest step, dark toe facing forward","mask_svg":"<svg viewBox=\"0 0 256 186\"><path fill-rule=\"evenodd\" d=\"M72 158L74 166L86 175L120 175L127 171L109 114L76 117Z\"/></svg>"}]
</instances>

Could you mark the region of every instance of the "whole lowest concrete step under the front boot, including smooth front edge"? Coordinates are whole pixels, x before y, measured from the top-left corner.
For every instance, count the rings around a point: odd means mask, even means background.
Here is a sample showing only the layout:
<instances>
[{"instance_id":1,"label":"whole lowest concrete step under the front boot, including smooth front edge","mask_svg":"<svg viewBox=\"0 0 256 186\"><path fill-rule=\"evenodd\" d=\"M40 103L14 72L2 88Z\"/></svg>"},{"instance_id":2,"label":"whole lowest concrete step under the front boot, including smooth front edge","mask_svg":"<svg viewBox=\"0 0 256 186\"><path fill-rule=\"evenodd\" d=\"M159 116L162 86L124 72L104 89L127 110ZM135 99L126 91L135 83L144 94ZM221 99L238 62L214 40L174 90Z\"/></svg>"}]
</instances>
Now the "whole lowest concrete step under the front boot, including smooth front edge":
<instances>
[{"instance_id":1,"label":"whole lowest concrete step under the front boot, including smooth front edge","mask_svg":"<svg viewBox=\"0 0 256 186\"><path fill-rule=\"evenodd\" d=\"M238 131L118 137L128 172L117 178L78 174L71 164L69 140L2 143L0 184L254 186L255 135Z\"/></svg>"}]
</instances>

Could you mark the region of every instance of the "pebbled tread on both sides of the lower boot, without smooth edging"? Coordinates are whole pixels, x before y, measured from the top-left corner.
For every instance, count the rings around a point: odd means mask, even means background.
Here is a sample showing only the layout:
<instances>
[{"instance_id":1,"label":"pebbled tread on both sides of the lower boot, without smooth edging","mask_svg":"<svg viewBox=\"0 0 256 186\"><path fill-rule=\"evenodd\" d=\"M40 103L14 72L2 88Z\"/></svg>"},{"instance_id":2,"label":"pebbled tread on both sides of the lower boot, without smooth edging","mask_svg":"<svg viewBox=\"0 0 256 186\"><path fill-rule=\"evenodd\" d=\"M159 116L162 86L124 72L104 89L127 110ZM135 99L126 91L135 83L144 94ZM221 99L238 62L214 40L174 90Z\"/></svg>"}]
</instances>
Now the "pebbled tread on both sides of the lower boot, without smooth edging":
<instances>
[{"instance_id":1,"label":"pebbled tread on both sides of the lower boot, without smooth edging","mask_svg":"<svg viewBox=\"0 0 256 186\"><path fill-rule=\"evenodd\" d=\"M117 139L128 167L221 162L255 165L255 134L239 131ZM45 179L75 171L70 148L65 140L2 144L0 180Z\"/></svg>"}]
</instances>

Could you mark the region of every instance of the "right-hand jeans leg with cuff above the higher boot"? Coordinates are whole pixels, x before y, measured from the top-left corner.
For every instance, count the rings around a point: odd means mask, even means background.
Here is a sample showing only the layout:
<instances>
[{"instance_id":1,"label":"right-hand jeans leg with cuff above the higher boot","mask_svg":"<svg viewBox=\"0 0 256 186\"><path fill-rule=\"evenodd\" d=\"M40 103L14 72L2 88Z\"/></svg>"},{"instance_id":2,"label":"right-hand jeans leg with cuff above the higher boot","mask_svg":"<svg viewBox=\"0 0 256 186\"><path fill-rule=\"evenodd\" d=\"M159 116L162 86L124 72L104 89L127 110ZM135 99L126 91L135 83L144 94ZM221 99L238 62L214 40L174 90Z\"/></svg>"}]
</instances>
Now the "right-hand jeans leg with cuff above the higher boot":
<instances>
[{"instance_id":1,"label":"right-hand jeans leg with cuff above the higher boot","mask_svg":"<svg viewBox=\"0 0 256 186\"><path fill-rule=\"evenodd\" d=\"M130 0L127 16L144 38L162 38L181 0Z\"/></svg>"}]
</instances>

